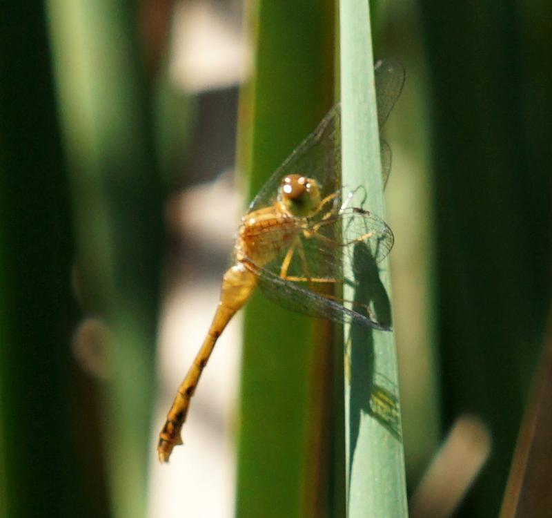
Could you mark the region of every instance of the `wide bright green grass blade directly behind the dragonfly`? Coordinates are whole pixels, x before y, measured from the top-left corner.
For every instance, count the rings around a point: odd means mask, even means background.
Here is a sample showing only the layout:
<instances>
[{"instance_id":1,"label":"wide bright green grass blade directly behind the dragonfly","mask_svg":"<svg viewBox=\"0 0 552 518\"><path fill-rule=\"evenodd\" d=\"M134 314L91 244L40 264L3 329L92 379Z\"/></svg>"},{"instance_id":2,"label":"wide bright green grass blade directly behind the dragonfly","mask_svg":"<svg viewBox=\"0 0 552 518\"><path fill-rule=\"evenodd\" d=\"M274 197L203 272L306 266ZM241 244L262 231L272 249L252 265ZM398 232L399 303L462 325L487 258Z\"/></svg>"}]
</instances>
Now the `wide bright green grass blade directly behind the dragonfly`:
<instances>
[{"instance_id":1,"label":"wide bright green grass blade directly behind the dragonfly","mask_svg":"<svg viewBox=\"0 0 552 518\"><path fill-rule=\"evenodd\" d=\"M255 68L242 90L239 166L250 196L333 104L333 1L249 2ZM257 294L245 311L237 516L320 517L327 467L322 320Z\"/></svg>"}]
</instances>

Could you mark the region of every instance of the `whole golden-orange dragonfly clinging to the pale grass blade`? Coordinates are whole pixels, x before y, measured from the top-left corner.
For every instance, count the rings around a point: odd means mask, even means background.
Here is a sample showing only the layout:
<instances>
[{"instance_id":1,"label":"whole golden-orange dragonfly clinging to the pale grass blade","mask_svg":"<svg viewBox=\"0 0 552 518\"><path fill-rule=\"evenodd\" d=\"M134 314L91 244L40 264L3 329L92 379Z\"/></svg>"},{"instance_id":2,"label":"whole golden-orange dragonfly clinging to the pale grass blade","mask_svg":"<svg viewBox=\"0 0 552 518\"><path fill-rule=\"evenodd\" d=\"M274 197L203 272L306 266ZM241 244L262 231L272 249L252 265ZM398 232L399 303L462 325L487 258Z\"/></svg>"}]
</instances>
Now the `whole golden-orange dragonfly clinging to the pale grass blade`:
<instances>
[{"instance_id":1,"label":"whole golden-orange dragonfly clinging to the pale grass blade","mask_svg":"<svg viewBox=\"0 0 552 518\"><path fill-rule=\"evenodd\" d=\"M404 68L393 60L374 68L377 118L386 122L404 84ZM355 244L368 245L376 262L393 247L393 232L377 215L362 208L362 189L344 194L341 172L341 106L336 104L268 179L243 216L222 279L219 304L204 343L195 356L159 433L159 461L168 462L182 444L181 428L201 372L217 339L235 313L259 287L287 309L339 323L355 322L388 330L369 307L347 307L336 287L355 285L344 277ZM380 140L384 184L391 169L391 149ZM332 289L334 287L335 289Z\"/></svg>"}]
</instances>

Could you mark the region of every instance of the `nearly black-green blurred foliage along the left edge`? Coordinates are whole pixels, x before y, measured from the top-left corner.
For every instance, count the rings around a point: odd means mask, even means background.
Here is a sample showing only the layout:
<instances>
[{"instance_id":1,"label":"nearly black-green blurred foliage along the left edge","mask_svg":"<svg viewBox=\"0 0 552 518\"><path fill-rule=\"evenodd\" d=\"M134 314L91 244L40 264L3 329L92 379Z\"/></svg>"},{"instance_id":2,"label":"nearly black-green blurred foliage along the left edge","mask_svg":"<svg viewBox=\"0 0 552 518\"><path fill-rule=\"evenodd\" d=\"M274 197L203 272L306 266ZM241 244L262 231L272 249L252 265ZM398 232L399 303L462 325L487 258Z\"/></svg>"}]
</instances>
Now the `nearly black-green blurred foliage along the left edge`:
<instances>
[{"instance_id":1,"label":"nearly black-green blurred foliage along the left edge","mask_svg":"<svg viewBox=\"0 0 552 518\"><path fill-rule=\"evenodd\" d=\"M0 512L106 515L68 346L72 224L43 6L0 8ZM86 431L88 430L88 431ZM83 433L84 432L84 433Z\"/></svg>"}]
</instances>

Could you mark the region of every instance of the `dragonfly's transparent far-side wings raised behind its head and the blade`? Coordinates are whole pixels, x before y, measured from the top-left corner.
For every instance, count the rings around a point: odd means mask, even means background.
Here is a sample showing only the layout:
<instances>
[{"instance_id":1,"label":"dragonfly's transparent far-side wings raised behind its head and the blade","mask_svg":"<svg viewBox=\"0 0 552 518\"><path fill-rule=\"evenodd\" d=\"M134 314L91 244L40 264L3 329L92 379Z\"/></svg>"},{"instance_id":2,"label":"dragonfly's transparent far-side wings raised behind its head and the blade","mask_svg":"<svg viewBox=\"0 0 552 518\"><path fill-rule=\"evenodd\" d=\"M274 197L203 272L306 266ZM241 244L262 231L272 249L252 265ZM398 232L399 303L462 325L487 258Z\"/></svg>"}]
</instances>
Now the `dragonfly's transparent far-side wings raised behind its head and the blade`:
<instances>
[{"instance_id":1,"label":"dragonfly's transparent far-side wings raised behind its head and the blade","mask_svg":"<svg viewBox=\"0 0 552 518\"><path fill-rule=\"evenodd\" d=\"M377 119L381 128L397 102L404 84L404 68L393 59L377 61L374 68ZM341 177L341 106L331 108L318 127L295 148L284 163L266 181L251 202L249 211L268 207L277 195L280 180L288 174L304 174L322 186L322 198L338 189ZM383 145L384 183L391 170L391 151Z\"/></svg>"}]
</instances>

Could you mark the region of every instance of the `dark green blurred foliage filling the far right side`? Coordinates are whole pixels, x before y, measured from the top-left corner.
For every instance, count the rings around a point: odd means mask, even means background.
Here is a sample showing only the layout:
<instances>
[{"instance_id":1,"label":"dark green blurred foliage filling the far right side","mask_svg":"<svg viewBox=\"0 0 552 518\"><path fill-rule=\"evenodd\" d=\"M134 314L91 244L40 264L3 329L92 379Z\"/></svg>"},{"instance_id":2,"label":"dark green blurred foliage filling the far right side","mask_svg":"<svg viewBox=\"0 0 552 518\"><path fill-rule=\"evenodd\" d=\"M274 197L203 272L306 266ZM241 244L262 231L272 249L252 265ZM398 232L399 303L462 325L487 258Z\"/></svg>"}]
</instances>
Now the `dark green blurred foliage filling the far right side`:
<instances>
[{"instance_id":1,"label":"dark green blurred foliage filling the far right side","mask_svg":"<svg viewBox=\"0 0 552 518\"><path fill-rule=\"evenodd\" d=\"M459 516L496 515L551 294L551 4L420 1L431 77L444 427L489 425Z\"/></svg>"}]
</instances>

